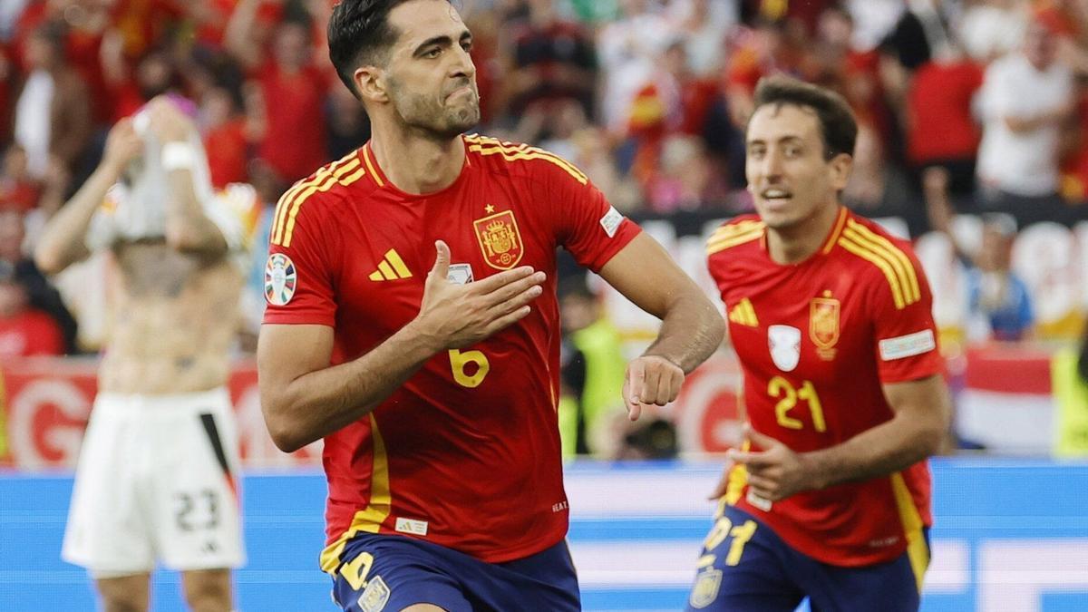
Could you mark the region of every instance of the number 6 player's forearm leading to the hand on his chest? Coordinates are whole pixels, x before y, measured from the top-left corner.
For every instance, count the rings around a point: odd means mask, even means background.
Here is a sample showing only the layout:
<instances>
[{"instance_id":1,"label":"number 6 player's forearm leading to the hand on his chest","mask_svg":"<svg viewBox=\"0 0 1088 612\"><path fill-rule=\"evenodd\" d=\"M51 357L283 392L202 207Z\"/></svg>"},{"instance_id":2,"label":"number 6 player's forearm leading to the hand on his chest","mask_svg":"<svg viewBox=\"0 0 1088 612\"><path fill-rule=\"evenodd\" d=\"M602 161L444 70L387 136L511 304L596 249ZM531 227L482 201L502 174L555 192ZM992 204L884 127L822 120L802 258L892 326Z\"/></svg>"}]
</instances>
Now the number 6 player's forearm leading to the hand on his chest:
<instances>
[{"instance_id":1,"label":"number 6 player's forearm leading to the hand on his chest","mask_svg":"<svg viewBox=\"0 0 1088 612\"><path fill-rule=\"evenodd\" d=\"M276 446L296 451L370 414L435 355L420 338L409 323L357 359L298 377L279 397L262 393Z\"/></svg>"}]
</instances>

